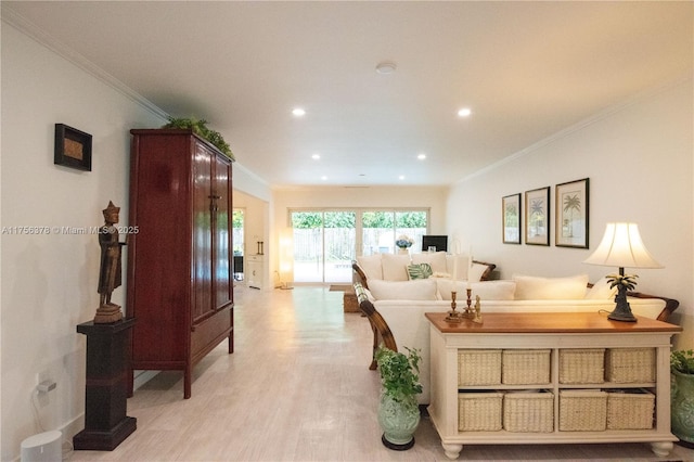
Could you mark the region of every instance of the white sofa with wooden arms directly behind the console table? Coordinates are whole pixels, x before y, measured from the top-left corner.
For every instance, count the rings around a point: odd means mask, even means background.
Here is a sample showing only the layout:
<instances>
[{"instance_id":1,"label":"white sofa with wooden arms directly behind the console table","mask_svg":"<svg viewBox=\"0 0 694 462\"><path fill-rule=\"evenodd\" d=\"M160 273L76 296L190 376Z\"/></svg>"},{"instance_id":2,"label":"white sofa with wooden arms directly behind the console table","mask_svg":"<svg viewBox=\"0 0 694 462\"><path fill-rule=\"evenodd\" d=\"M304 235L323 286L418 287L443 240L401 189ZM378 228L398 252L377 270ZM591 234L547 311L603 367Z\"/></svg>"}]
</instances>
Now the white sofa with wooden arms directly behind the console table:
<instances>
[{"instance_id":1,"label":"white sofa with wooden arms directly behind the console table","mask_svg":"<svg viewBox=\"0 0 694 462\"><path fill-rule=\"evenodd\" d=\"M421 349L423 393L419 400L428 403L429 322L424 313L451 309L452 281L429 278L410 282L370 280L369 283L370 290L359 282L355 285L360 308L374 331L374 348L384 343L395 350L406 346ZM467 282L455 284L459 310L466 305L467 286ZM568 278L514 275L511 280L471 282L470 287L473 299L480 296L483 321L487 312L603 311L606 316L615 307L615 290L609 287L607 280L589 284L587 274ZM421 290L419 294L417 290ZM634 315L661 321L667 321L679 306L679 301L671 298L639 293L630 293L629 303ZM371 368L375 368L375 363L372 362Z\"/></svg>"}]
</instances>

